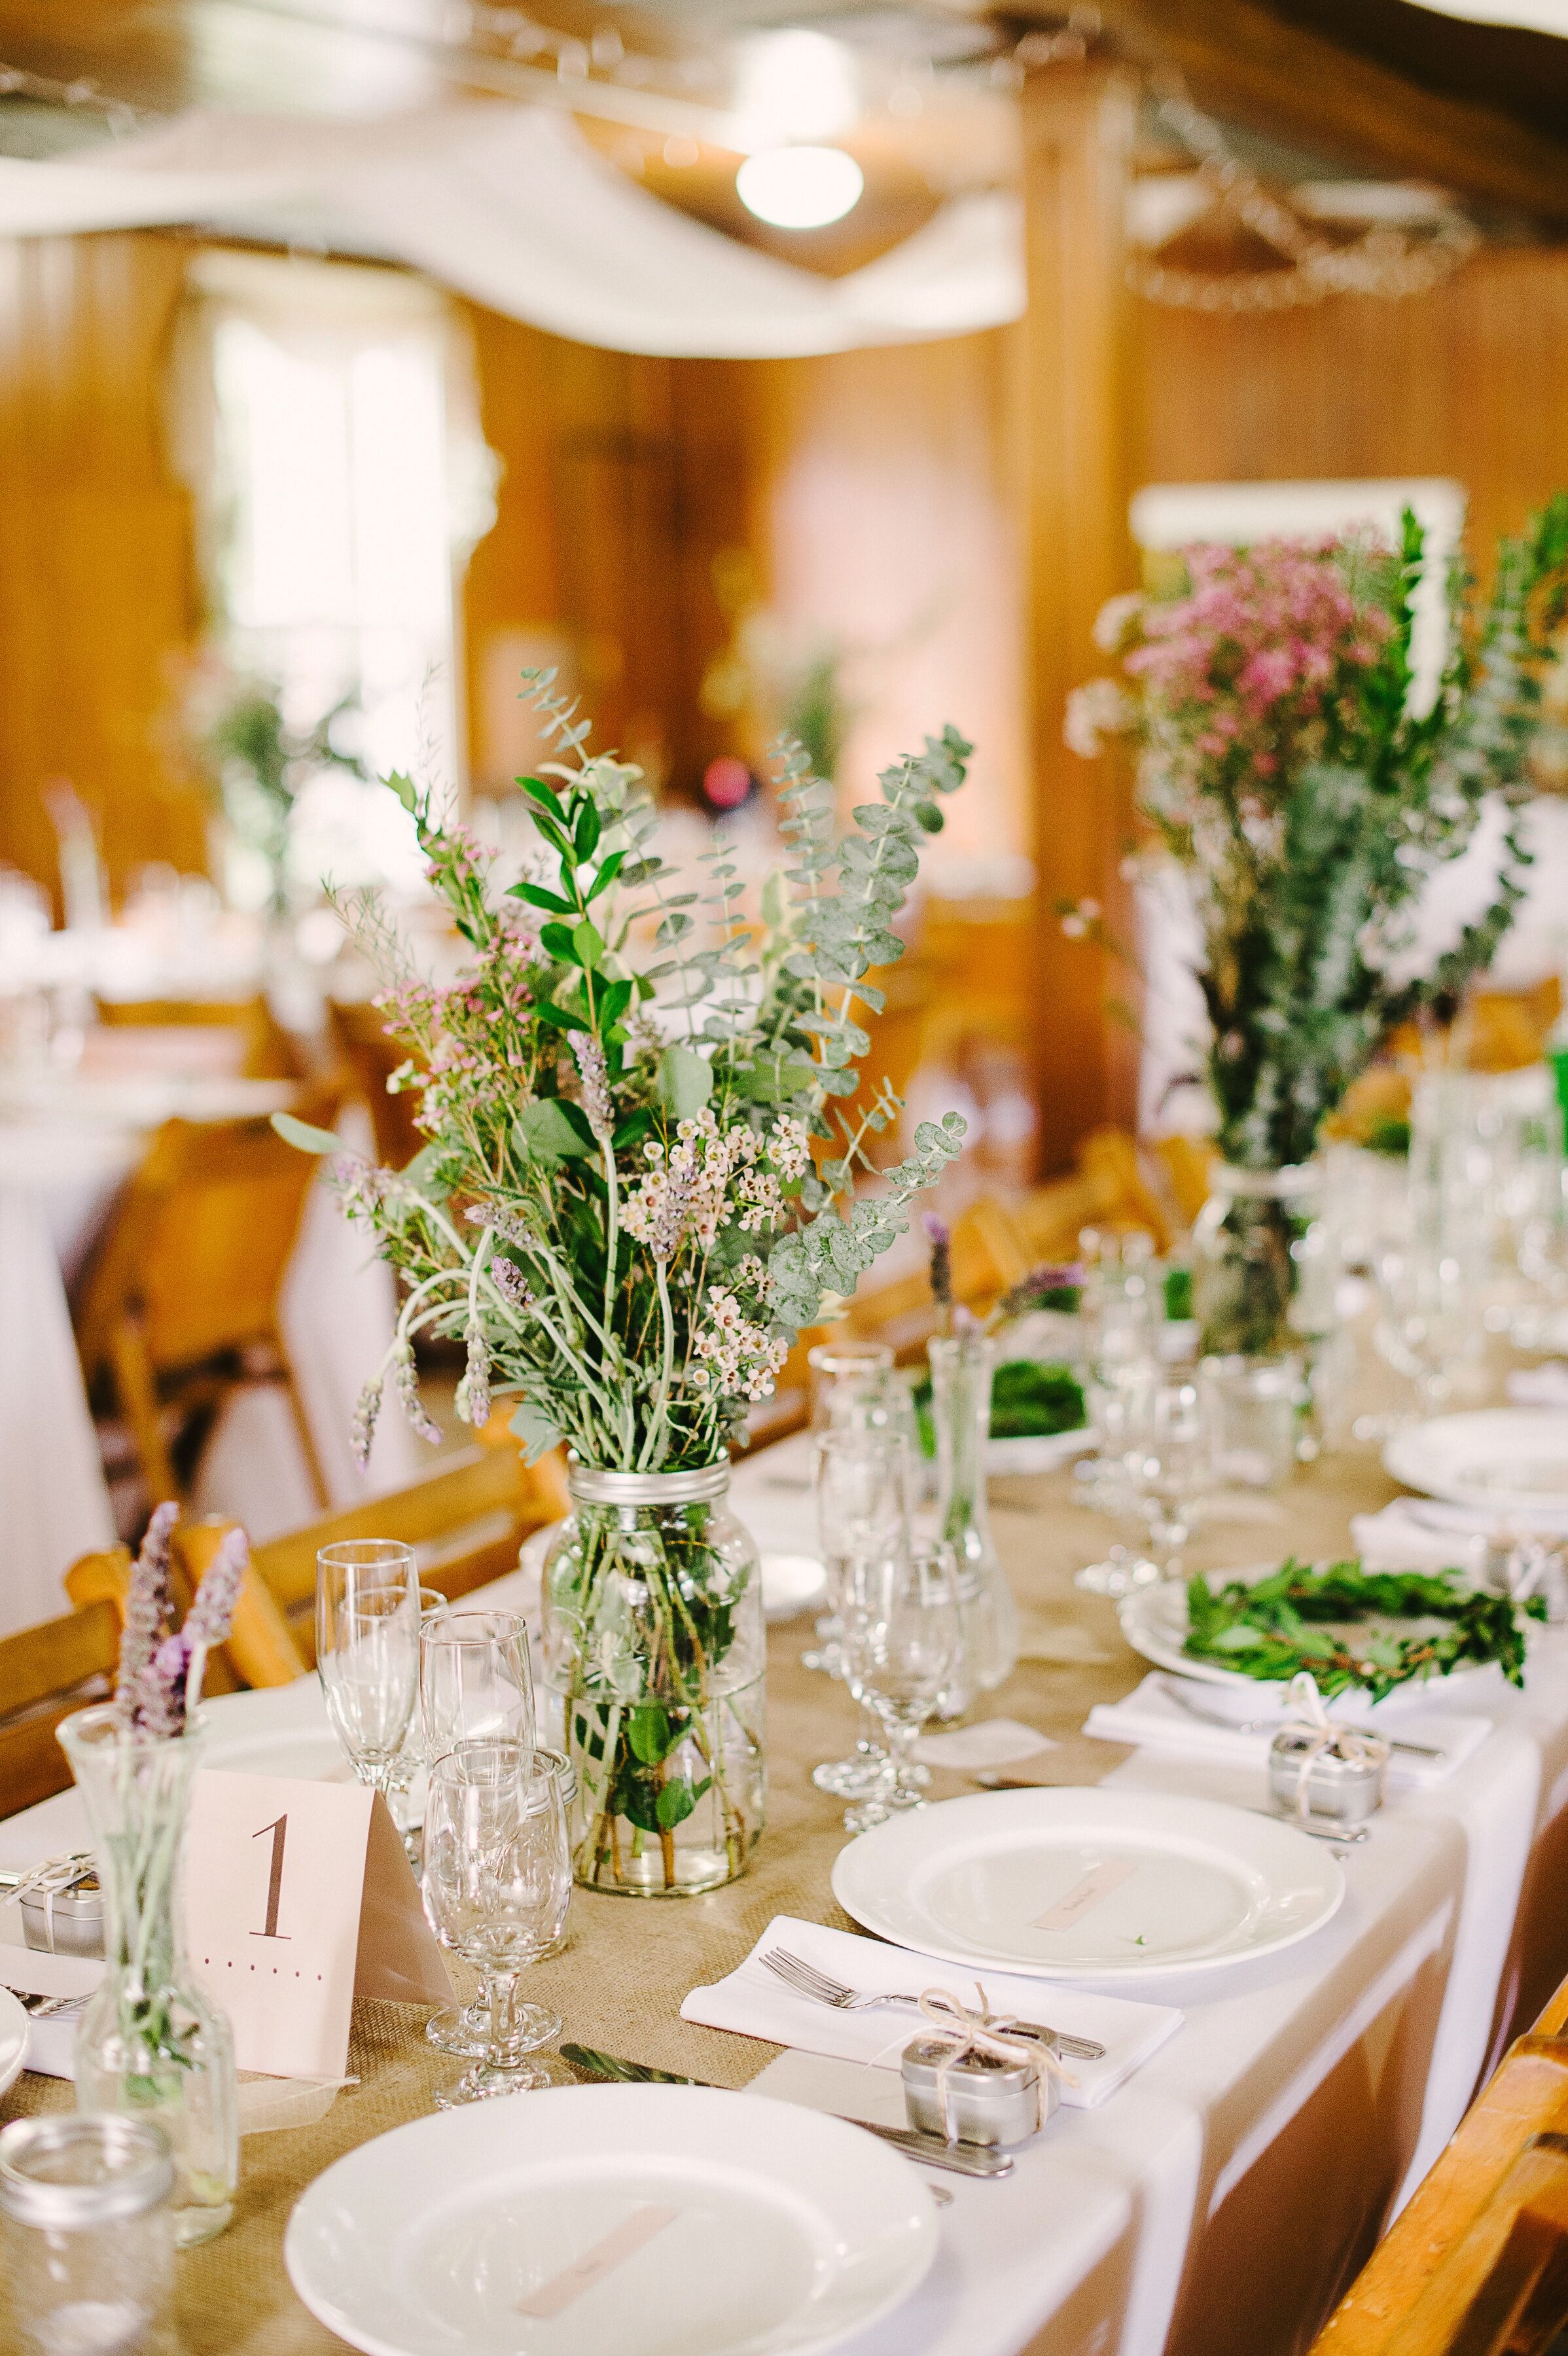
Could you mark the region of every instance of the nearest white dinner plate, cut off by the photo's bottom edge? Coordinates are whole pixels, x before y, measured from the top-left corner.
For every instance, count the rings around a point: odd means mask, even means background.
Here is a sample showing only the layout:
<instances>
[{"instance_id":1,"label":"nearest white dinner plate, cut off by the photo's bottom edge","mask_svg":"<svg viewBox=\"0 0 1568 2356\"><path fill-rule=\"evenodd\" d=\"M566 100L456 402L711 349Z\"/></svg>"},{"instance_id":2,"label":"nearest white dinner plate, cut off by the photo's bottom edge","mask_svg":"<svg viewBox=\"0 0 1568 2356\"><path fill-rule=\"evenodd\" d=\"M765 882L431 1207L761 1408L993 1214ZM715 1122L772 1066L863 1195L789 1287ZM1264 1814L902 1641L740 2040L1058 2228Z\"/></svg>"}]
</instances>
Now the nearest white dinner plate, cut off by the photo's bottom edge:
<instances>
[{"instance_id":1,"label":"nearest white dinner plate, cut off by the photo's bottom edge","mask_svg":"<svg viewBox=\"0 0 1568 2356\"><path fill-rule=\"evenodd\" d=\"M617 2233L567 2304L523 2311ZM283 2243L304 2304L367 2356L817 2356L902 2304L935 2252L897 2151L687 2085L417 2118L327 2168Z\"/></svg>"}]
</instances>

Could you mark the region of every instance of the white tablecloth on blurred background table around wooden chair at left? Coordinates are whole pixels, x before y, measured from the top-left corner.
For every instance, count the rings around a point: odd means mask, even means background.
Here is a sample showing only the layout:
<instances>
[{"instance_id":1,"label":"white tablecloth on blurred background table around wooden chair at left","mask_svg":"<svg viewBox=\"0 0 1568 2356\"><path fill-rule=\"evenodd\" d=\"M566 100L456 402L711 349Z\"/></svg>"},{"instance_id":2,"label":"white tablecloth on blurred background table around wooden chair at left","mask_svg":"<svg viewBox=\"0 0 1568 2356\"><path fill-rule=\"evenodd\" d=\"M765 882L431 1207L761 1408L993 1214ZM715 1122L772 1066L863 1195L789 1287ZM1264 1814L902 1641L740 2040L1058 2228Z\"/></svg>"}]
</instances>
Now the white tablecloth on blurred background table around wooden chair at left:
<instances>
[{"instance_id":1,"label":"white tablecloth on blurred background table around wooden chair at left","mask_svg":"<svg viewBox=\"0 0 1568 2356\"><path fill-rule=\"evenodd\" d=\"M66 1284L78 1272L146 1138L170 1110L221 1119L268 1091L221 1084L82 1091L47 1117L0 1119L0 1635L66 1609L64 1571L113 1541L97 1435L82 1390ZM158 1103L153 1103L158 1098ZM167 1098L167 1100L165 1100ZM254 1103L252 1103L254 1098ZM421 1470L424 1442L381 1418L370 1472L348 1447L360 1385L391 1338L391 1270L367 1251L323 1185L313 1187L285 1279L283 1336L299 1378L327 1501L398 1489ZM233 1513L261 1541L320 1513L299 1435L278 1385L240 1390L198 1468L195 1513Z\"/></svg>"}]
</instances>

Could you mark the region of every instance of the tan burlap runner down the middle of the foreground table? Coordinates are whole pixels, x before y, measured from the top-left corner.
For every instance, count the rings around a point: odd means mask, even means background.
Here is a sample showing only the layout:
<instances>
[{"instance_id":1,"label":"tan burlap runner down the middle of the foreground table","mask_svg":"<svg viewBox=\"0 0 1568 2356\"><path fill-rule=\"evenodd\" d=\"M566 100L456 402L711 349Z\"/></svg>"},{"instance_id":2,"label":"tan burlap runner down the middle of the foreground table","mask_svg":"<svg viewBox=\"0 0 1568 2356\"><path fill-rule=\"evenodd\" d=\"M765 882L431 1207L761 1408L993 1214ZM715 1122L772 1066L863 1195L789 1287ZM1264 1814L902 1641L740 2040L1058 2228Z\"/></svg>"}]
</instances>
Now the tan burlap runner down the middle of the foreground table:
<instances>
[{"instance_id":1,"label":"tan burlap runner down the middle of the foreground table","mask_svg":"<svg viewBox=\"0 0 1568 2356\"><path fill-rule=\"evenodd\" d=\"M1335 1557L1349 1515L1387 1503L1394 1487L1370 1454L1335 1456L1281 1496L1227 1498L1191 1550L1194 1567L1238 1567L1285 1553ZM984 1715L1008 1713L1062 1748L1029 1762L1057 1783L1090 1783L1125 1751L1078 1739L1088 1710L1130 1692L1144 1666L1123 1642L1111 1604L1081 1595L1071 1574L1099 1555L1111 1524L1085 1510L1069 1472L991 1482L996 1543L1024 1616L1024 1661ZM817 1760L857 1734L843 1687L800 1668L805 1621L768 1644L768 1831L751 1871L704 1899L614 1899L577 1892L567 1946L527 1974L527 1993L553 2005L563 2036L716 2085L746 2085L777 2052L756 2038L680 2021L697 1981L730 1972L772 1915L793 1913L855 1930L833 1904L829 1873L843 1847L841 1802L810 1783ZM961 1774L932 1776L932 1798L972 1791ZM461 1970L461 1967L459 1967ZM313 2127L250 2135L240 2146L235 2219L219 2241L179 2262L184 2356L323 2356L341 2349L290 2290L283 2229L299 2191L344 2151L421 2118L433 2087L457 2069L424 2040L424 2012L358 2005L346 2087ZM527 2094L511 2097L527 2102ZM0 2116L68 2109L71 2087L24 2073ZM2 2325L0 2325L2 2328Z\"/></svg>"}]
</instances>

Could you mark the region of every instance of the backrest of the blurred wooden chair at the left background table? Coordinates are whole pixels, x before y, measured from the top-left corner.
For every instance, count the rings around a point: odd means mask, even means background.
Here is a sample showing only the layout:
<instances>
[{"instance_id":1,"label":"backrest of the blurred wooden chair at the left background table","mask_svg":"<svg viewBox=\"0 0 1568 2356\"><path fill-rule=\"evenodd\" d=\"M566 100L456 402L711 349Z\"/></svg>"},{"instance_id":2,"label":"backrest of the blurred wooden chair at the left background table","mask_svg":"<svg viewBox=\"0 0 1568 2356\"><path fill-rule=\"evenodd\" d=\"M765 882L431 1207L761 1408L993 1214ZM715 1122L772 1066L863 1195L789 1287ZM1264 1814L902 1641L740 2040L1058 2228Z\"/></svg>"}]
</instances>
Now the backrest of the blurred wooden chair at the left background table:
<instances>
[{"instance_id":1,"label":"backrest of the blurred wooden chair at the left background table","mask_svg":"<svg viewBox=\"0 0 1568 2356\"><path fill-rule=\"evenodd\" d=\"M301 1105L332 1124L334 1103ZM129 1312L155 1374L275 1341L275 1305L318 1164L264 1119L165 1121L94 1256L78 1308L92 1381Z\"/></svg>"}]
</instances>

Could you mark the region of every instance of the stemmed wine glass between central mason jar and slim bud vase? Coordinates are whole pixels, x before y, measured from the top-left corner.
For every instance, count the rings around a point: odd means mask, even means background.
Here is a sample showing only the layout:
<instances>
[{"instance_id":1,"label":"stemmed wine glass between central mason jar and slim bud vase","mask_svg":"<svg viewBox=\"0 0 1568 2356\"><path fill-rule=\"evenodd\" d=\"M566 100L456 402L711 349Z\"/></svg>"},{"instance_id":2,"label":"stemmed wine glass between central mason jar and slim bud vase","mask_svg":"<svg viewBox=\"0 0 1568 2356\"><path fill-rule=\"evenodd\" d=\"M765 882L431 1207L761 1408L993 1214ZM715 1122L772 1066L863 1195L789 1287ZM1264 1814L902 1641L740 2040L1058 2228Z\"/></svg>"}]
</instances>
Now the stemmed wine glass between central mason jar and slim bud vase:
<instances>
[{"instance_id":1,"label":"stemmed wine glass between central mason jar and slim bud vase","mask_svg":"<svg viewBox=\"0 0 1568 2356\"><path fill-rule=\"evenodd\" d=\"M843 1816L850 1833L864 1833L895 1809L925 1807L911 1751L963 1659L951 1546L857 1562L845 1579L843 1647L850 1692L888 1734L890 1769Z\"/></svg>"}]
</instances>

